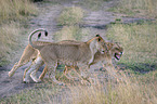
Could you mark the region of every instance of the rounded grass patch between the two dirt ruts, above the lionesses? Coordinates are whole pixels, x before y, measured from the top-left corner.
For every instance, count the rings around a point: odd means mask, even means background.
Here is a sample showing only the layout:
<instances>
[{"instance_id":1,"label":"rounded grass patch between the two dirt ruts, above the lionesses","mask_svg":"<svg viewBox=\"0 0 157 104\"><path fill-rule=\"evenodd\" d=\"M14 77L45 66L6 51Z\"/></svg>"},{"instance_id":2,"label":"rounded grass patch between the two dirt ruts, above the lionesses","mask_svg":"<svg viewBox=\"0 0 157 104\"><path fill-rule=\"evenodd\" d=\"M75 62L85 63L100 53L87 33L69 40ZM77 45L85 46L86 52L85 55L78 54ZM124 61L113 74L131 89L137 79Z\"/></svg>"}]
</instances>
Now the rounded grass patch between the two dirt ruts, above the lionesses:
<instances>
[{"instance_id":1,"label":"rounded grass patch between the two dirt ruts, above the lionesses","mask_svg":"<svg viewBox=\"0 0 157 104\"><path fill-rule=\"evenodd\" d=\"M83 10L79 6L65 8L57 18L58 25L76 25L81 23Z\"/></svg>"}]
</instances>

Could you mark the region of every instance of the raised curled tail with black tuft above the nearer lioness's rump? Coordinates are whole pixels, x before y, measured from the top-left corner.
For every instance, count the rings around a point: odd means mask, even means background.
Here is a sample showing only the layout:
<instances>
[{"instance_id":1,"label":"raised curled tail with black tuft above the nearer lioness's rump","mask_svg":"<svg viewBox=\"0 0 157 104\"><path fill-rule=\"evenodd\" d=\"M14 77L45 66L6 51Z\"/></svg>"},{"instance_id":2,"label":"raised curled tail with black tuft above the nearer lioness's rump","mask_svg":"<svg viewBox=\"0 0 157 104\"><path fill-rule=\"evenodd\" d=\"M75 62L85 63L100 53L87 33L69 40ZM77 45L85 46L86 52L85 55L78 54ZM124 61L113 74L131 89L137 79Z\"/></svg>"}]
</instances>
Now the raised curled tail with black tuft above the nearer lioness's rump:
<instances>
[{"instance_id":1,"label":"raised curled tail with black tuft above the nearer lioness's rump","mask_svg":"<svg viewBox=\"0 0 157 104\"><path fill-rule=\"evenodd\" d=\"M28 37L29 44L30 44L32 48L36 48L36 49L40 49L40 47L42 47L42 46L38 46L38 44L32 43L32 40L31 40L32 36L34 36L36 32L38 32L38 31L44 31L45 37L48 36L48 31L47 31L44 28L39 28L39 29L36 29L36 30L34 30L32 32L30 32L30 35L29 35L29 37ZM39 39L40 37L41 37L41 32L38 35L38 39Z\"/></svg>"}]
</instances>

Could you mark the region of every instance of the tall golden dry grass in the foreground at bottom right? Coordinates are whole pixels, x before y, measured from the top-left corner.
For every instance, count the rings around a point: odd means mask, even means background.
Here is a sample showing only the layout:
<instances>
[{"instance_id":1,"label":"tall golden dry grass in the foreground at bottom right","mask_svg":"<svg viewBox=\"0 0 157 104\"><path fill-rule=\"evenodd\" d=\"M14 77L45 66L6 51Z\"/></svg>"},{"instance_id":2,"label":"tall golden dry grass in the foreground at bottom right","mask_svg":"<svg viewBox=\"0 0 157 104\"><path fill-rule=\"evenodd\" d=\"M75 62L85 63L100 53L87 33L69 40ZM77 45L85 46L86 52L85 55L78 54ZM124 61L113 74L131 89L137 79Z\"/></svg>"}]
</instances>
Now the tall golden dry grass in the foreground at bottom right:
<instances>
[{"instance_id":1,"label":"tall golden dry grass in the foreground at bottom right","mask_svg":"<svg viewBox=\"0 0 157 104\"><path fill-rule=\"evenodd\" d=\"M121 73L122 81L105 81L91 87L70 87L70 104L156 104L157 84L145 84Z\"/></svg>"}]
</instances>

